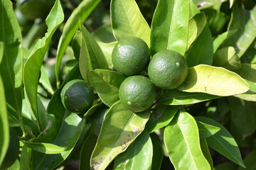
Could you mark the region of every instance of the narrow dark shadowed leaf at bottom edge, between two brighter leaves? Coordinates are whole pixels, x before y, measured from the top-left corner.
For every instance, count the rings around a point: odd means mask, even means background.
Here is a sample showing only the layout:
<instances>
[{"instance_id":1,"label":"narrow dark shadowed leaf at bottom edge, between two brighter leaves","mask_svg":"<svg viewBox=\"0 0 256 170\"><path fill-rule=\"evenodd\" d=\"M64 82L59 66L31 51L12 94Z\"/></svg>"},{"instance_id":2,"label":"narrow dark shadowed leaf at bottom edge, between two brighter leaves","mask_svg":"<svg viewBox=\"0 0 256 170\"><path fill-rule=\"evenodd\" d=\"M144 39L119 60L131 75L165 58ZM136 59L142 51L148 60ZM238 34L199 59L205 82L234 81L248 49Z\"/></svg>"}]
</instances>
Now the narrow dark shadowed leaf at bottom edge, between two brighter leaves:
<instances>
[{"instance_id":1,"label":"narrow dark shadowed leaf at bottom edge, between two brighter leaves","mask_svg":"<svg viewBox=\"0 0 256 170\"><path fill-rule=\"evenodd\" d=\"M160 142L159 137L156 135L156 133L151 133L150 137L153 144L153 159L151 170L160 170L164 158L162 143Z\"/></svg>"}]
</instances>

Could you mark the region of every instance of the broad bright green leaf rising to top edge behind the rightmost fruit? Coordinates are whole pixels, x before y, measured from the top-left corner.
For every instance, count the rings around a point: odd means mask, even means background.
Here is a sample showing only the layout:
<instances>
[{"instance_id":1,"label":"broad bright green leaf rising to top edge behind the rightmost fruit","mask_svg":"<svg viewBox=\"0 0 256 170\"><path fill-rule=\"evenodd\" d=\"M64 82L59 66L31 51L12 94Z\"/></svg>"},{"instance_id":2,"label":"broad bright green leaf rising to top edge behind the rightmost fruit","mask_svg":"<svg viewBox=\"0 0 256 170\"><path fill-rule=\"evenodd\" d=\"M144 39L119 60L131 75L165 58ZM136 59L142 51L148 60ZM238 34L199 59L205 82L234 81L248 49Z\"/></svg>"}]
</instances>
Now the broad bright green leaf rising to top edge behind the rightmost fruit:
<instances>
[{"instance_id":1,"label":"broad bright green leaf rising to top edge behind the rightmost fruit","mask_svg":"<svg viewBox=\"0 0 256 170\"><path fill-rule=\"evenodd\" d=\"M159 0L151 24L151 52L175 50L184 55L188 46L187 0Z\"/></svg>"}]
</instances>

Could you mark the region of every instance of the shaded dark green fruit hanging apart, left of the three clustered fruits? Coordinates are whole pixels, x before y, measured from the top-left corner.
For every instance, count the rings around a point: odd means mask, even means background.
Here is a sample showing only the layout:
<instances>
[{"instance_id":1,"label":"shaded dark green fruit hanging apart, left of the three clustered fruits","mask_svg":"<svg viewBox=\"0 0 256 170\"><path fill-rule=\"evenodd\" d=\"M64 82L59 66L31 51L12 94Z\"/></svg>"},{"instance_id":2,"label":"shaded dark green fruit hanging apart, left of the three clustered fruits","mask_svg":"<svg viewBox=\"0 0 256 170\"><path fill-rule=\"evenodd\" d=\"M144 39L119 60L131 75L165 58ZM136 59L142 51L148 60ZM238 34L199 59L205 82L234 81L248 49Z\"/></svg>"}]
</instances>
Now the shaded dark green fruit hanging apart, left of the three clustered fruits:
<instances>
[{"instance_id":1,"label":"shaded dark green fruit hanging apart, left of the three clustered fruits","mask_svg":"<svg viewBox=\"0 0 256 170\"><path fill-rule=\"evenodd\" d=\"M85 113L94 100L92 87L84 80L68 81L60 93L63 106L73 113Z\"/></svg>"}]
</instances>

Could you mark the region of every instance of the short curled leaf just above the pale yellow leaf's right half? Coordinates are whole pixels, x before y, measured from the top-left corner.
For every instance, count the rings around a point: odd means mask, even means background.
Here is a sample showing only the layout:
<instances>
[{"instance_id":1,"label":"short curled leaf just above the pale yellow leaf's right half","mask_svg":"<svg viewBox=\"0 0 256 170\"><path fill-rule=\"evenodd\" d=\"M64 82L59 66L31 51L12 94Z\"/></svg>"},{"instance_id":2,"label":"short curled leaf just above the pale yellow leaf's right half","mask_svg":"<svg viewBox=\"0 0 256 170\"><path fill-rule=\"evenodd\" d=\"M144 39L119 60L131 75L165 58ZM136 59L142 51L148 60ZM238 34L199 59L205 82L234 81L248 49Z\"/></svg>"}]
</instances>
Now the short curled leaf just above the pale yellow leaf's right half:
<instances>
[{"instance_id":1,"label":"short curled leaf just above the pale yellow leaf's right half","mask_svg":"<svg viewBox=\"0 0 256 170\"><path fill-rule=\"evenodd\" d=\"M240 69L241 62L234 47L223 47L217 50L213 56L213 65L225 69Z\"/></svg>"}]
</instances>

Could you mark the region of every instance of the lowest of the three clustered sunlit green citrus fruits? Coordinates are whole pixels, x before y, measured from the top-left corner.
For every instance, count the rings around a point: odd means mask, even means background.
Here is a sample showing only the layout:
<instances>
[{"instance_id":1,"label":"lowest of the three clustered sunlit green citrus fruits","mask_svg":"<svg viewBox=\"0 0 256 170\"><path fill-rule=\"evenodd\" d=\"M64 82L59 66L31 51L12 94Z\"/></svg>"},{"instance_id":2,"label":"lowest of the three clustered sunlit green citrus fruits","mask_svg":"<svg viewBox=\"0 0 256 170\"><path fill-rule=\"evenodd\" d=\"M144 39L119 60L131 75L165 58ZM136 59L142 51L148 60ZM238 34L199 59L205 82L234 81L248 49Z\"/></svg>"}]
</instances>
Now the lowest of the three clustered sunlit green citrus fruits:
<instances>
[{"instance_id":1,"label":"lowest of the three clustered sunlit green citrus fruits","mask_svg":"<svg viewBox=\"0 0 256 170\"><path fill-rule=\"evenodd\" d=\"M119 100L134 112L150 108L156 98L156 88L149 78L132 76L124 79L119 87Z\"/></svg>"}]
</instances>

